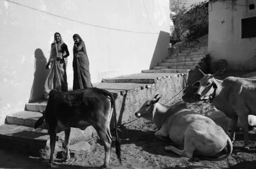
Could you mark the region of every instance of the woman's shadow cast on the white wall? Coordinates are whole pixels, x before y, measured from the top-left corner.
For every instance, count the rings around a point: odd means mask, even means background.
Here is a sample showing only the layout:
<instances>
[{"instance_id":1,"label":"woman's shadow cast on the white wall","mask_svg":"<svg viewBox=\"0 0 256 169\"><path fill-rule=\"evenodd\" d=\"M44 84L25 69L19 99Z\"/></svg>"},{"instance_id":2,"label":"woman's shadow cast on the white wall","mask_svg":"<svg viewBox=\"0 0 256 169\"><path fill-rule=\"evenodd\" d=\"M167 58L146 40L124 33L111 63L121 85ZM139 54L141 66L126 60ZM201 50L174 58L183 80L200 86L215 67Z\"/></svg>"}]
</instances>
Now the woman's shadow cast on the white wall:
<instances>
[{"instance_id":1,"label":"woman's shadow cast on the white wall","mask_svg":"<svg viewBox=\"0 0 256 169\"><path fill-rule=\"evenodd\" d=\"M44 83L50 69L46 69L47 59L41 49L35 49L35 73L29 103L44 98Z\"/></svg>"}]
</instances>

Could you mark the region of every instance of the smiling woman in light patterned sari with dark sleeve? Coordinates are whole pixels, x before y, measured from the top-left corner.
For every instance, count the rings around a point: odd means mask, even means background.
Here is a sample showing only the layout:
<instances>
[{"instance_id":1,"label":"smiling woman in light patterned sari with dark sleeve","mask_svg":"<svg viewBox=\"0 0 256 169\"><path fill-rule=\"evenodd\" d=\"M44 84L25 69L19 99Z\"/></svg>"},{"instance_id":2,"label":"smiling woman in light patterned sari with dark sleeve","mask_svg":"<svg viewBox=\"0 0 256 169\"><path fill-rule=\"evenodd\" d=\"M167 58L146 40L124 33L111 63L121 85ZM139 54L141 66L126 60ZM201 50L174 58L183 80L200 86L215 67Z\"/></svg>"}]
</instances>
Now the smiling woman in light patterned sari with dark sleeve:
<instances>
[{"instance_id":1,"label":"smiling woman in light patterned sari with dark sleeve","mask_svg":"<svg viewBox=\"0 0 256 169\"><path fill-rule=\"evenodd\" d=\"M50 90L67 91L67 57L69 51L64 43L61 34L54 34L54 41L51 45L50 58L46 65L46 69L51 66L50 72L46 78L44 85L44 97L47 99Z\"/></svg>"}]
</instances>

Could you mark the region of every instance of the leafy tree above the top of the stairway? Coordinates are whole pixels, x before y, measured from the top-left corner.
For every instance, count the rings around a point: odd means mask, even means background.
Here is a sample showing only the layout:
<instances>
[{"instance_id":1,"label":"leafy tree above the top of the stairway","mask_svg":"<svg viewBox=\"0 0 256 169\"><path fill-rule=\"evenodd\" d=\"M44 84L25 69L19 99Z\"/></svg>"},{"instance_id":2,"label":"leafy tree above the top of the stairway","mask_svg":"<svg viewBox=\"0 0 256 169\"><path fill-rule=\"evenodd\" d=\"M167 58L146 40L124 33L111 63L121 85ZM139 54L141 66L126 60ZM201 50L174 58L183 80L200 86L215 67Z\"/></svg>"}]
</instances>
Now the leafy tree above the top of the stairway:
<instances>
[{"instance_id":1,"label":"leafy tree above the top of the stairway","mask_svg":"<svg viewBox=\"0 0 256 169\"><path fill-rule=\"evenodd\" d=\"M207 1L193 4L186 8L187 0L170 0L171 37L180 40L183 35L186 41L192 41L208 33L209 14Z\"/></svg>"}]
</instances>

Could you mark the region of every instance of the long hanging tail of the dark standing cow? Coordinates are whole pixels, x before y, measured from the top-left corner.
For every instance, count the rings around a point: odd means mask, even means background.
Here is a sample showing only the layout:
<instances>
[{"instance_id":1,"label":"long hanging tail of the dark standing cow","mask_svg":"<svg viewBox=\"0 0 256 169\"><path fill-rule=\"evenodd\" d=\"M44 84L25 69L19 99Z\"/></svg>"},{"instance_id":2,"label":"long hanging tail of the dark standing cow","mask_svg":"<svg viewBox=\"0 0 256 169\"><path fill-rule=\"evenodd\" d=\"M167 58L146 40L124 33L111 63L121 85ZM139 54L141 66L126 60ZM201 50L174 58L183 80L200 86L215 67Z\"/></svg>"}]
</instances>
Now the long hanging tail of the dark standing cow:
<instances>
[{"instance_id":1,"label":"long hanging tail of the dark standing cow","mask_svg":"<svg viewBox=\"0 0 256 169\"><path fill-rule=\"evenodd\" d=\"M113 112L114 112L114 120L115 120L115 132L116 132L116 155L117 155L117 159L118 159L118 162L120 164L122 164L122 160L121 160L121 140L120 138L118 137L118 134L117 134L117 121L116 121L116 102L115 102L115 99L113 97L112 94L109 95L109 97L111 98L110 101L111 101L111 104L113 105Z\"/></svg>"}]
</instances>

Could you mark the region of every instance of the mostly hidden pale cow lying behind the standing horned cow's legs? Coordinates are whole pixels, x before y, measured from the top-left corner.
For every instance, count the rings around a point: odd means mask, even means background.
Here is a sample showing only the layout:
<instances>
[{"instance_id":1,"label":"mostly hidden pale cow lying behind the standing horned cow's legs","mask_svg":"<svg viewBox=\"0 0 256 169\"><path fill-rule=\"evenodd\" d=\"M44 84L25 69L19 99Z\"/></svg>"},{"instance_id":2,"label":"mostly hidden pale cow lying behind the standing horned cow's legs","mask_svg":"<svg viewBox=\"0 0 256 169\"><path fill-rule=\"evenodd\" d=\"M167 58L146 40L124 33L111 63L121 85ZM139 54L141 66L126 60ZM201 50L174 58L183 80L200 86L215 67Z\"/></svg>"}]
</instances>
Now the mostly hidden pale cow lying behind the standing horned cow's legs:
<instances>
[{"instance_id":1,"label":"mostly hidden pale cow lying behind the standing horned cow's legs","mask_svg":"<svg viewBox=\"0 0 256 169\"><path fill-rule=\"evenodd\" d=\"M224 132L227 133L227 135L230 136L233 120L227 117L224 112L221 112L220 110L216 109L215 107L208 110L207 112L204 113L206 117L209 117L212 119L216 124L221 126L221 128L224 130ZM249 126L256 126L256 116L255 115L248 115L248 124ZM236 130L241 129L241 123L238 118L237 125L236 125Z\"/></svg>"}]
</instances>

